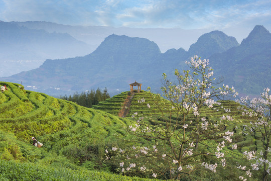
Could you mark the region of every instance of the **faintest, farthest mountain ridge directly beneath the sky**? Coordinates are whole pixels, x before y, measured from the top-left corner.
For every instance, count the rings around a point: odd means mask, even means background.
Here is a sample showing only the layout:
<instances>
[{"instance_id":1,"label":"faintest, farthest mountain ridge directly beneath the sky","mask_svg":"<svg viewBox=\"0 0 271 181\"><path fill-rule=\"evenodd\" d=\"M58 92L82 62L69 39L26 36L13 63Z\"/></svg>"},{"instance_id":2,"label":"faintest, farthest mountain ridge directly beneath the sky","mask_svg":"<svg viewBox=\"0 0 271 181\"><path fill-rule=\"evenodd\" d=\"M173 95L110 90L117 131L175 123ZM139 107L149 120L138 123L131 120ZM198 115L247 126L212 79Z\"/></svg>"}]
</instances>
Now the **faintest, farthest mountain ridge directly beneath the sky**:
<instances>
[{"instance_id":1,"label":"faintest, farthest mountain ridge directly beneath the sky","mask_svg":"<svg viewBox=\"0 0 271 181\"><path fill-rule=\"evenodd\" d=\"M105 37L111 34L126 35L129 37L147 38L156 42L162 52L171 48L185 48L197 41L202 34L210 32L207 29L184 30L181 28L129 28L129 27L107 27L107 26L71 26L52 22L28 21L10 22L29 29L42 29L49 33L68 33L77 40L91 45L93 52Z\"/></svg>"}]
</instances>

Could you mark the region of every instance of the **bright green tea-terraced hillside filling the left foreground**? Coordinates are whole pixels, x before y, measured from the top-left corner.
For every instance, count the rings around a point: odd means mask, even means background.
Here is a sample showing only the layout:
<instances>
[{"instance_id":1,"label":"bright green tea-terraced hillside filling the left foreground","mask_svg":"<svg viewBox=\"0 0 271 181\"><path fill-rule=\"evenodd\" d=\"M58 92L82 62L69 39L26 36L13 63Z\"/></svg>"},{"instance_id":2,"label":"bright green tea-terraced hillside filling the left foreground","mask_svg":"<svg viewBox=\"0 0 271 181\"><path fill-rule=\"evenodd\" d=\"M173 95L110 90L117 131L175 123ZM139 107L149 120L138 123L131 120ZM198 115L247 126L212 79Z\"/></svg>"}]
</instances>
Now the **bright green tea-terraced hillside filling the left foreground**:
<instances>
[{"instance_id":1,"label":"bright green tea-terraced hillside filling the left foreground","mask_svg":"<svg viewBox=\"0 0 271 181\"><path fill-rule=\"evenodd\" d=\"M102 168L105 146L117 144L128 120L0 85L8 88L0 93L0 180L146 180L89 171ZM33 136L43 147L32 145Z\"/></svg>"}]
</instances>

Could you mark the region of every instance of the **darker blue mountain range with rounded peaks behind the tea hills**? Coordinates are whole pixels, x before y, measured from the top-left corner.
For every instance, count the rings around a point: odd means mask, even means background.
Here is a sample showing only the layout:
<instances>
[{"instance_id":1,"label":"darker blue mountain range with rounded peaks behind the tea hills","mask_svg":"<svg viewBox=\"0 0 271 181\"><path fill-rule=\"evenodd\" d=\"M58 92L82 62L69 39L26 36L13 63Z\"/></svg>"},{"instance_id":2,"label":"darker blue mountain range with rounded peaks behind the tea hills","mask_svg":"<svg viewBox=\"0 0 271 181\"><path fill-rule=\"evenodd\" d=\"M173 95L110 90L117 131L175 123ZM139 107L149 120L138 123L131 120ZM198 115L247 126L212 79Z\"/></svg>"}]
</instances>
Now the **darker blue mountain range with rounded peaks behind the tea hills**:
<instances>
[{"instance_id":1,"label":"darker blue mountain range with rounded peaks behind the tea hills","mask_svg":"<svg viewBox=\"0 0 271 181\"><path fill-rule=\"evenodd\" d=\"M198 55L209 59L214 76L235 86L241 94L256 94L270 85L270 33L255 26L241 44L221 31L199 37L188 51L169 49L161 53L158 45L146 38L112 34L98 48L83 57L47 59L39 68L21 72L3 81L21 81L25 87L49 95L72 94L91 88L107 87L115 94L129 89L137 80L143 89L161 86L162 73L173 75L174 69L187 69L185 61ZM270 86L269 86L270 87Z\"/></svg>"}]
</instances>

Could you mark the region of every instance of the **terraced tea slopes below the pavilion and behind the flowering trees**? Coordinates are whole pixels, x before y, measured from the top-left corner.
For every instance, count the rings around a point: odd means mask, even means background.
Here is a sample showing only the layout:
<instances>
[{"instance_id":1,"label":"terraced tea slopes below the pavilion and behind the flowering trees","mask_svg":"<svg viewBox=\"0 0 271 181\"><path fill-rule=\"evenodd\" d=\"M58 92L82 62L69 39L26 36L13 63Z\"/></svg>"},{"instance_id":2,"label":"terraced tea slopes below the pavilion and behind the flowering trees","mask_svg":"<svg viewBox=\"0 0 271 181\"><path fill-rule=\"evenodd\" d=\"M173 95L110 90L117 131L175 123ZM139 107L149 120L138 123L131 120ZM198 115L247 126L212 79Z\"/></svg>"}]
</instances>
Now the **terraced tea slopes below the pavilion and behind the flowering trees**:
<instances>
[{"instance_id":1,"label":"terraced tea slopes below the pavilion and behind the flowering trees","mask_svg":"<svg viewBox=\"0 0 271 181\"><path fill-rule=\"evenodd\" d=\"M98 109L107 113L111 113L115 116L123 109L123 103L127 98L129 92L123 92L119 95L113 96L112 98L107 99L106 101L100 102L97 106L93 106L94 109ZM140 114L141 116L146 115L156 115L157 119L159 119L160 124L165 124L165 120L160 118L160 112L156 110L150 110L146 106L147 103L153 105L152 93L141 91L141 93L134 94L131 99L131 105L128 109L127 118L131 118L131 115L135 112ZM145 104L140 103L140 100L144 99ZM163 98L161 98L163 99ZM260 150L262 148L262 142L258 140L260 137L259 133L256 133L254 137L250 135L244 135L242 133L243 125L248 124L250 121L256 121L256 117L249 117L248 115L242 116L242 111L238 110L240 106L238 103L234 101L219 101L221 105L214 105L213 108L203 107L201 109L201 116L206 117L207 119L212 120L220 120L220 117L223 115L230 115L234 118L234 120L238 120L236 128L234 129L233 142L237 144L238 153L242 153L246 150ZM125 109L125 108L124 108ZM167 112L167 110L164 110ZM171 118L174 119L174 116L171 115ZM180 118L178 118L180 120ZM176 118L175 118L176 120ZM190 122L192 121L192 124ZM195 117L193 115L188 116L186 118L186 124L191 126L191 129L194 127ZM234 124L229 124L227 130L232 129ZM234 150L233 150L234 151Z\"/></svg>"}]
</instances>

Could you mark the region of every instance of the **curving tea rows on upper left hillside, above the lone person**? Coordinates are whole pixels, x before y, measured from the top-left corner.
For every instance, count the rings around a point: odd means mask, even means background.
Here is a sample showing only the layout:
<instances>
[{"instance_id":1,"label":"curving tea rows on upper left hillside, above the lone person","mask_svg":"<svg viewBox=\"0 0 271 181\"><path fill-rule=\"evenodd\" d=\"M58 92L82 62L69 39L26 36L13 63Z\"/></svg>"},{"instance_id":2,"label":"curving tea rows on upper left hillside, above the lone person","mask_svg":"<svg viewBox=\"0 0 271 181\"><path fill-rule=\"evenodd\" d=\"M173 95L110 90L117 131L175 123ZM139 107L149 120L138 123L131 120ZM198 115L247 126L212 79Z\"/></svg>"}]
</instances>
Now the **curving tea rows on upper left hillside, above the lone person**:
<instances>
[{"instance_id":1,"label":"curving tea rows on upper left hillside, above the lone person","mask_svg":"<svg viewBox=\"0 0 271 181\"><path fill-rule=\"evenodd\" d=\"M118 130L116 125L125 125L123 120L111 114L87 109L46 94L25 91L19 84L0 84L7 85L9 89L0 94L1 129L9 130L22 141L27 141L32 136L85 127L100 133L110 130L110 133L106 133L110 136Z\"/></svg>"}]
</instances>

